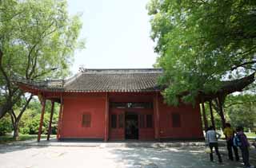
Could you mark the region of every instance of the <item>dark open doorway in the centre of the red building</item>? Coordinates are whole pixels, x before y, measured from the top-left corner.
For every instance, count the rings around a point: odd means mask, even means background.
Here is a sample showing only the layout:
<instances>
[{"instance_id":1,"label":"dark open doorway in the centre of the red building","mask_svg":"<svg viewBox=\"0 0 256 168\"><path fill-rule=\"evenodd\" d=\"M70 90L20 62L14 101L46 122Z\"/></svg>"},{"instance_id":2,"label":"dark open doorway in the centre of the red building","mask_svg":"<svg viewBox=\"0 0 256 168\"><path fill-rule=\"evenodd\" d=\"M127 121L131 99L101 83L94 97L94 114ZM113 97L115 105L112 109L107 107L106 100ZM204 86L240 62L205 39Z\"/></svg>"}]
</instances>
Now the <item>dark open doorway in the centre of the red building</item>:
<instances>
[{"instance_id":1,"label":"dark open doorway in the centre of the red building","mask_svg":"<svg viewBox=\"0 0 256 168\"><path fill-rule=\"evenodd\" d=\"M138 139L138 114L126 112L126 139Z\"/></svg>"}]
</instances>

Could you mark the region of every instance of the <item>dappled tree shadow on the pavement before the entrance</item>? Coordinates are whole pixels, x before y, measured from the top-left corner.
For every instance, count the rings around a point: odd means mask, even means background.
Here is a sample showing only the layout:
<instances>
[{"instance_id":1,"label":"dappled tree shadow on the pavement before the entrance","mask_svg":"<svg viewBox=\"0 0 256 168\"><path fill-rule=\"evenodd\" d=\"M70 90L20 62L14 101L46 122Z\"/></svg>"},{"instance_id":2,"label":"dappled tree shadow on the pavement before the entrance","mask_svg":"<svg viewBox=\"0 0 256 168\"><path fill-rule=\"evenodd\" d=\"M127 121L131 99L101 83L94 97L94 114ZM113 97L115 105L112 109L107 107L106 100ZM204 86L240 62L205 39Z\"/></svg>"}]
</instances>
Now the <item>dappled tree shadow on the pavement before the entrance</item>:
<instances>
[{"instance_id":1,"label":"dappled tree shadow on the pavement before the entrance","mask_svg":"<svg viewBox=\"0 0 256 168\"><path fill-rule=\"evenodd\" d=\"M242 168L242 162L228 161L224 149L221 150L223 163L219 164L217 156L210 162L209 154L204 152L204 147L170 147L170 148L145 148L123 147L110 150L114 154L115 162L120 162L124 167L152 167L152 168L191 168L191 167L232 167Z\"/></svg>"}]
</instances>

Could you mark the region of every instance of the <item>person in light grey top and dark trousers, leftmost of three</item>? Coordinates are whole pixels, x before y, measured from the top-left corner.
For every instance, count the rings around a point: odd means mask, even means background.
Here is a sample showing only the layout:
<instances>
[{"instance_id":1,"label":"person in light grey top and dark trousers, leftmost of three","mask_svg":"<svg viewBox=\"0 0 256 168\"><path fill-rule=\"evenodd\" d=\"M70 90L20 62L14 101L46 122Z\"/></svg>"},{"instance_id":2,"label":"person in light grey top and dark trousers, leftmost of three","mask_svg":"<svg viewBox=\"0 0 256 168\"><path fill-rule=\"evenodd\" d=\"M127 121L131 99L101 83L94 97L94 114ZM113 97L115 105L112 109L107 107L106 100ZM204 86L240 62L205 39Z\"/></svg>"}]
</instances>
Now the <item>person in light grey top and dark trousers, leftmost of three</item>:
<instances>
[{"instance_id":1,"label":"person in light grey top and dark trousers, leftmost of three","mask_svg":"<svg viewBox=\"0 0 256 168\"><path fill-rule=\"evenodd\" d=\"M210 126L208 128L208 131L206 131L206 143L208 143L210 147L210 161L214 161L214 156L213 156L213 148L215 149L215 153L218 156L218 162L222 162L222 157L221 154L218 152L218 139L221 137L218 132L214 130L213 126Z\"/></svg>"}]
</instances>

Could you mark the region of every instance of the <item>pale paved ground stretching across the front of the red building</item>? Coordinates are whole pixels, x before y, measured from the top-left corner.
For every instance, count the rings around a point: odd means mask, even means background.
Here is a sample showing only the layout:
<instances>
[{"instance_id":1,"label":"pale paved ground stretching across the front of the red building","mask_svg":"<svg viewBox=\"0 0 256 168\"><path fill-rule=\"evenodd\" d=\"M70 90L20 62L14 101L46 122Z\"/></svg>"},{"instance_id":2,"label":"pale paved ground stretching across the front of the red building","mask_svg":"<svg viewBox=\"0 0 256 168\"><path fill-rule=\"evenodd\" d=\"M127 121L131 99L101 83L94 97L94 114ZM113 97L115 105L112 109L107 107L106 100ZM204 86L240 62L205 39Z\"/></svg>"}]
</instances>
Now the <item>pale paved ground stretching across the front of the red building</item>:
<instances>
[{"instance_id":1,"label":"pale paved ground stretching across the front of the red building","mask_svg":"<svg viewBox=\"0 0 256 168\"><path fill-rule=\"evenodd\" d=\"M228 161L221 147L224 163L210 162L204 147L134 147L112 146L62 147L35 145L0 146L1 168L240 168L242 162ZM256 150L251 150L256 165ZM214 158L215 155L214 155Z\"/></svg>"}]
</instances>

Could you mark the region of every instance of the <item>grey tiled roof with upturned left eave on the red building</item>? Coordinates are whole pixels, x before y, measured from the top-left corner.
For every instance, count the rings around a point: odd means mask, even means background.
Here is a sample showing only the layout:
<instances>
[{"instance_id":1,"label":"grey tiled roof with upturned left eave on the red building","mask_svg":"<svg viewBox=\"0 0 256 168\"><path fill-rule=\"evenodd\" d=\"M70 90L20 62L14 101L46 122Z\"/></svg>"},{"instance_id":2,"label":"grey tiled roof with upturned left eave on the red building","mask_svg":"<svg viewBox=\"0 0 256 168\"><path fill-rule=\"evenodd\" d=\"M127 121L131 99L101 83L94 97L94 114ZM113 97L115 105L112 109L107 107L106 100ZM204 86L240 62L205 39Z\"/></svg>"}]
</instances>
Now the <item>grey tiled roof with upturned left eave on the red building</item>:
<instances>
[{"instance_id":1,"label":"grey tiled roof with upturned left eave on the red building","mask_svg":"<svg viewBox=\"0 0 256 168\"><path fill-rule=\"evenodd\" d=\"M31 88L60 92L152 92L158 90L160 68L82 69L68 80L17 80Z\"/></svg>"}]
</instances>

